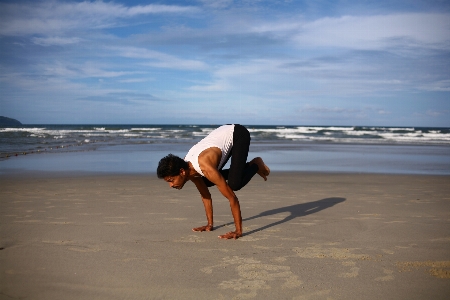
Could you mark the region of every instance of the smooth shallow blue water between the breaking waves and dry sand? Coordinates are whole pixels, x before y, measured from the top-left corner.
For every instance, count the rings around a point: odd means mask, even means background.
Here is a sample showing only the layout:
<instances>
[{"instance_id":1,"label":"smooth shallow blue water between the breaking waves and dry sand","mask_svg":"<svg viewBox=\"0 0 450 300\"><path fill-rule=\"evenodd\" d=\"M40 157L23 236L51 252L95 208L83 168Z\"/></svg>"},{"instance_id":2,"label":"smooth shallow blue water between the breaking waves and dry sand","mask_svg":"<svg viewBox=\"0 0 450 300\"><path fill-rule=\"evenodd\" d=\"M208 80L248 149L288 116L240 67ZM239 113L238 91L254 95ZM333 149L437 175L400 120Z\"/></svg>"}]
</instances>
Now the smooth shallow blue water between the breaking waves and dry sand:
<instances>
[{"instance_id":1,"label":"smooth shallow blue water between the breaking waves and dry sand","mask_svg":"<svg viewBox=\"0 0 450 300\"><path fill-rule=\"evenodd\" d=\"M152 144L98 148L95 151L21 155L0 161L0 174L27 171L153 173L161 157L183 157L191 145ZM249 160L260 156L273 171L450 175L445 146L367 146L305 144L250 146ZM226 167L225 167L226 168Z\"/></svg>"}]
</instances>

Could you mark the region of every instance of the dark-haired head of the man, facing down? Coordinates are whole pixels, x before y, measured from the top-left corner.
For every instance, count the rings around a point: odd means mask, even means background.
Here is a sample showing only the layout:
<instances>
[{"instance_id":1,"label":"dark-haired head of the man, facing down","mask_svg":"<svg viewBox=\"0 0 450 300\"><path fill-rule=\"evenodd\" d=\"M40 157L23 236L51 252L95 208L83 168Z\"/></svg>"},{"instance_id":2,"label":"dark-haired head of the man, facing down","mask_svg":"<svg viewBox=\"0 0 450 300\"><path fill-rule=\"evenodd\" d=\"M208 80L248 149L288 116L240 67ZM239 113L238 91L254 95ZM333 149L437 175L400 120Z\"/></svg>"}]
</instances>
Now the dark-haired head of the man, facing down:
<instances>
[{"instance_id":1,"label":"dark-haired head of the man, facing down","mask_svg":"<svg viewBox=\"0 0 450 300\"><path fill-rule=\"evenodd\" d=\"M164 179L170 187L181 190L188 178L189 164L182 158L169 154L158 164L158 178Z\"/></svg>"}]
</instances>

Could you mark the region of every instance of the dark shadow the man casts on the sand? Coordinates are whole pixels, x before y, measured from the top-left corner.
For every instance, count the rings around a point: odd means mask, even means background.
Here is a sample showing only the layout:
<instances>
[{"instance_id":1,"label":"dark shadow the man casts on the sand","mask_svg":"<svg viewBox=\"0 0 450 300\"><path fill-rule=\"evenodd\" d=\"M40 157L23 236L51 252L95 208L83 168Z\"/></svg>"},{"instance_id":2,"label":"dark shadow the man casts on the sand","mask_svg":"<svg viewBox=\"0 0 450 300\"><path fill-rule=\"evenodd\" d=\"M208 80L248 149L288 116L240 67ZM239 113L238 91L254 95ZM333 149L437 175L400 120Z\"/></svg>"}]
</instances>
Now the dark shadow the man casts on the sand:
<instances>
[{"instance_id":1,"label":"dark shadow the man casts on the sand","mask_svg":"<svg viewBox=\"0 0 450 300\"><path fill-rule=\"evenodd\" d=\"M289 222L295 218L299 218L299 217L304 217L310 214L314 214L317 213L321 210L330 208L338 203L344 202L345 198L339 198L339 197L332 197L332 198L325 198L325 199L321 199L321 200L317 200L317 201L312 201L312 202L307 202L307 203L301 203L301 204L295 204L295 205L291 205L291 206L286 206L286 207L280 207L280 208L275 208L275 209L271 209L271 210L267 210L265 212L260 213L259 215L253 216L253 217L249 217L249 218L245 218L242 219L242 221L250 221L253 219L257 219L257 218L261 218L261 217L267 217L267 216L273 216L276 214L280 214L280 213L290 213L289 216L287 216L286 218L284 218L283 220L279 220L276 222L273 222L271 224L267 224L264 225L263 227L260 228L256 228L253 229L251 231L248 232L244 232L243 236L246 235L250 235L259 231L263 231L265 229L268 229L270 227L282 224L282 223L286 223ZM224 227L227 225L232 225L234 224L233 222L228 223L228 224L224 224L221 226L217 226L214 229L218 229L220 227Z\"/></svg>"}]
</instances>

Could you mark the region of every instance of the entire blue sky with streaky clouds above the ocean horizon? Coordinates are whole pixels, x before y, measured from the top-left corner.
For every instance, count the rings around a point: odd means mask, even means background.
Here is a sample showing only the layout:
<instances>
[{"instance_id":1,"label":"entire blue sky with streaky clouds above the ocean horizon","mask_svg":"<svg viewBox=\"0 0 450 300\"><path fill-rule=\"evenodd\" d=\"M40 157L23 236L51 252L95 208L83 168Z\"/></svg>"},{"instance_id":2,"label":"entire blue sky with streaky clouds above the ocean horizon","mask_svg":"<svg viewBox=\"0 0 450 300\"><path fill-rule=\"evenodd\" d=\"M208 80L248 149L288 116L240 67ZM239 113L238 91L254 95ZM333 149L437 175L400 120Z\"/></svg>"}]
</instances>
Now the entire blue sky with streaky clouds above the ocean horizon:
<instances>
[{"instance_id":1,"label":"entire blue sky with streaky clouds above the ocean horizon","mask_svg":"<svg viewBox=\"0 0 450 300\"><path fill-rule=\"evenodd\" d=\"M450 2L0 1L26 124L450 126Z\"/></svg>"}]
</instances>

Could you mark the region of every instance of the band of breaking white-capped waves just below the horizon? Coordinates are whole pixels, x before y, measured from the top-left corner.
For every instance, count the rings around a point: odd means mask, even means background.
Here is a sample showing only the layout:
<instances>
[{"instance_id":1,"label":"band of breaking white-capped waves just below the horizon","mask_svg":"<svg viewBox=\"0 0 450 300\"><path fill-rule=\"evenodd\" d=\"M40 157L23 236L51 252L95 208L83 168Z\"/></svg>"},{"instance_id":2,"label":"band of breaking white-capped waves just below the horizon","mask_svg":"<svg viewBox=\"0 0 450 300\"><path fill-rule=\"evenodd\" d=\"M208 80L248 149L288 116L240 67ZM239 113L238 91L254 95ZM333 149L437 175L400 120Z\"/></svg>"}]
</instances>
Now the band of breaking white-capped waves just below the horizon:
<instances>
[{"instance_id":1,"label":"band of breaking white-capped waves just below the horizon","mask_svg":"<svg viewBox=\"0 0 450 300\"><path fill-rule=\"evenodd\" d=\"M95 127L89 129L57 129L58 127L33 127L33 128L0 128L0 134L11 132L26 132L22 138L39 138L59 140L85 139L91 142L91 138L98 141L120 140L121 138L149 139L192 139L203 138L215 128L212 127L145 127L145 128L117 128ZM64 127L62 127L64 128ZM67 127L66 127L67 128ZM450 144L450 133L442 133L439 129L427 130L420 128L389 128L389 127L351 127L351 126L296 126L296 127L269 127L252 128L249 132L255 140L293 140L293 141L329 141L329 142L355 142L355 143L427 143Z\"/></svg>"}]
</instances>

